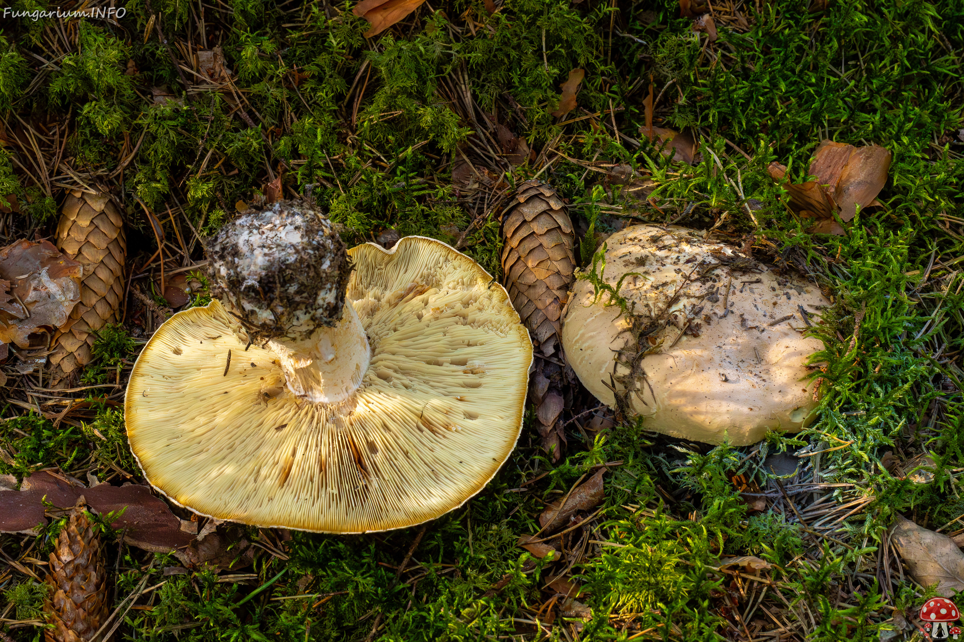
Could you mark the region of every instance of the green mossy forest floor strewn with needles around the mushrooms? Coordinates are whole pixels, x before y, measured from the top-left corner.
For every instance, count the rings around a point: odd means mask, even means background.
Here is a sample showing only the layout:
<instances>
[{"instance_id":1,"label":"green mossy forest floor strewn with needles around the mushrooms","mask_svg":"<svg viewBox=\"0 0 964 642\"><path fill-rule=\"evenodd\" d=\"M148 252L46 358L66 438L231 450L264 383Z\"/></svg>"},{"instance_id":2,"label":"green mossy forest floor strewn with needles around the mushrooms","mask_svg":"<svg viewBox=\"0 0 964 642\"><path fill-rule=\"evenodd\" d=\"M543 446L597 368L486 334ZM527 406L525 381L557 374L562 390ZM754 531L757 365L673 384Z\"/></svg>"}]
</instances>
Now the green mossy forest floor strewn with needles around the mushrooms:
<instances>
[{"instance_id":1,"label":"green mossy forest floor strewn with needles around the mushrooms","mask_svg":"<svg viewBox=\"0 0 964 642\"><path fill-rule=\"evenodd\" d=\"M209 301L199 241L249 203L308 196L349 246L434 237L500 277L493 194L532 177L568 203L583 268L606 234L656 222L715 228L806 271L834 301L813 331L826 347L817 418L714 447L614 422L574 385L558 462L530 408L495 479L424 527L221 526L253 554L211 571L105 525L114 639L920 636L936 590L922 583L936 580L908 572L888 528L898 515L964 526L964 2L390 1L410 13L370 38L353 4L329 0L3 18L0 194L16 202L0 246L53 239L69 190L108 192L128 280L120 325L73 388L13 353L0 366L0 474L145 482L125 381L168 308ZM581 86L563 95L576 69ZM670 158L648 124L692 146ZM808 232L767 171L804 182L827 139L893 155L878 206L842 234ZM177 306L160 295L162 266L195 280ZM520 547L549 501L601 467L603 500L580 506L554 555ZM60 514L39 536L0 535L0 639L42 637ZM964 588L960 569L947 577Z\"/></svg>"}]
</instances>

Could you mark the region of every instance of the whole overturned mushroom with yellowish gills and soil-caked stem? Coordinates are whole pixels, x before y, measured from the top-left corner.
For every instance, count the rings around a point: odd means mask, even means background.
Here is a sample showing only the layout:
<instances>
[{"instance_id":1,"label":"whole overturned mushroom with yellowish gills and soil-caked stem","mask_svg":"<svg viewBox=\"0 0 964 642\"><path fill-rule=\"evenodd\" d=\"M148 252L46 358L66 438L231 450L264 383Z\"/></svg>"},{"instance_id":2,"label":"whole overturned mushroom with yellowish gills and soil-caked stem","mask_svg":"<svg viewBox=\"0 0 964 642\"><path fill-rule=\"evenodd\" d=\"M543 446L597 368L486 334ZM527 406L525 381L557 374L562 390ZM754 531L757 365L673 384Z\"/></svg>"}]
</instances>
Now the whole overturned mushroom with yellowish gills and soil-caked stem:
<instances>
[{"instance_id":1,"label":"whole overturned mushroom with yellowish gills and soil-caked stem","mask_svg":"<svg viewBox=\"0 0 964 642\"><path fill-rule=\"evenodd\" d=\"M126 395L131 449L168 498L378 531L462 505L509 456L532 346L469 257L422 237L346 252L291 201L229 222L208 254L216 300L155 332Z\"/></svg>"}]
</instances>

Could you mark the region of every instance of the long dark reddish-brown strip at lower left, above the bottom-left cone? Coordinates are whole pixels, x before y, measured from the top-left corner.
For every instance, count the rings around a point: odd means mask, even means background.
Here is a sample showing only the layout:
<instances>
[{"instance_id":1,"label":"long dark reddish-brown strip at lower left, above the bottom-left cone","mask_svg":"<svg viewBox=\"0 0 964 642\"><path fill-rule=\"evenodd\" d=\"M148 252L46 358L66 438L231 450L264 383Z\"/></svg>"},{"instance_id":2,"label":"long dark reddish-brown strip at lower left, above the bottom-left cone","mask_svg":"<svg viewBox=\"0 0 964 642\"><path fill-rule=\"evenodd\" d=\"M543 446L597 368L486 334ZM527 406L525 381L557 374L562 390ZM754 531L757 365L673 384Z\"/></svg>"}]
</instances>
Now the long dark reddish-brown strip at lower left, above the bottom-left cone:
<instances>
[{"instance_id":1,"label":"long dark reddish-brown strip at lower left, above the bottom-left cone","mask_svg":"<svg viewBox=\"0 0 964 642\"><path fill-rule=\"evenodd\" d=\"M35 526L47 524L41 499L58 507L68 508L81 495L97 513L120 511L113 528L126 528L124 541L145 551L171 552L186 546L194 539L180 529L180 520L164 501L154 497L147 486L130 484L111 486L97 484L85 488L82 483L67 480L47 472L34 473L23 480L19 492L0 492L0 532L36 534Z\"/></svg>"}]
</instances>

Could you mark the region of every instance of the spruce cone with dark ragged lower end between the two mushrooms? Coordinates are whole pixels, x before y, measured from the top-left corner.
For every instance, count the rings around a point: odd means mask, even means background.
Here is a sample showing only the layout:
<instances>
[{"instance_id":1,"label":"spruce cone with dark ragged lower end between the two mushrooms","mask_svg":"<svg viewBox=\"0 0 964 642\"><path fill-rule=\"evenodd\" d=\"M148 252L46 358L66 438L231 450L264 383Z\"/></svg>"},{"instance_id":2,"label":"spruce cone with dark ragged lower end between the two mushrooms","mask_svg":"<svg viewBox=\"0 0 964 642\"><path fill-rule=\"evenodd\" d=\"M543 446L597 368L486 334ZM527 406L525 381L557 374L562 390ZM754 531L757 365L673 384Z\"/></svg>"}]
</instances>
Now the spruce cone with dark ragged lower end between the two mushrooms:
<instances>
[{"instance_id":1,"label":"spruce cone with dark ragged lower end between the two mushrooms","mask_svg":"<svg viewBox=\"0 0 964 642\"><path fill-rule=\"evenodd\" d=\"M555 190L540 181L526 181L505 209L502 234L504 284L536 347L535 370L529 378L536 427L543 449L558 460L559 439L565 441L559 416L572 404L572 398L561 392L571 371L565 367L559 331L576 270L573 223Z\"/></svg>"}]
</instances>

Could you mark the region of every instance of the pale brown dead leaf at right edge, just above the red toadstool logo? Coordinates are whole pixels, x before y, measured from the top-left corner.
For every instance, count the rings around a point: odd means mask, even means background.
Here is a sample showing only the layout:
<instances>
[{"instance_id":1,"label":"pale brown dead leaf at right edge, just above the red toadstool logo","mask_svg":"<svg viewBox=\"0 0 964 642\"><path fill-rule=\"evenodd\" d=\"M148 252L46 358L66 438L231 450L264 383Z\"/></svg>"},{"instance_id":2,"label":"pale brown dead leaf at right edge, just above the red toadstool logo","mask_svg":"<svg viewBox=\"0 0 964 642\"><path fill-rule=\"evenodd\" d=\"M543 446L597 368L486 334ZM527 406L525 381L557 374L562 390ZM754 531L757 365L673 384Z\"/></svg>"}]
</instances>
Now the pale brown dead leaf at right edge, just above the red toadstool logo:
<instances>
[{"instance_id":1,"label":"pale brown dead leaf at right edge, just above the red toadstool logo","mask_svg":"<svg viewBox=\"0 0 964 642\"><path fill-rule=\"evenodd\" d=\"M891 526L891 541L919 584L937 582L937 594L945 598L953 591L964 590L964 552L950 537L897 515Z\"/></svg>"}]
</instances>

